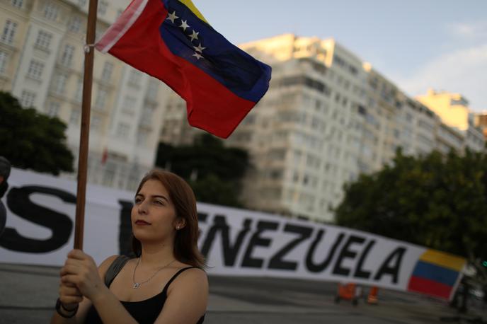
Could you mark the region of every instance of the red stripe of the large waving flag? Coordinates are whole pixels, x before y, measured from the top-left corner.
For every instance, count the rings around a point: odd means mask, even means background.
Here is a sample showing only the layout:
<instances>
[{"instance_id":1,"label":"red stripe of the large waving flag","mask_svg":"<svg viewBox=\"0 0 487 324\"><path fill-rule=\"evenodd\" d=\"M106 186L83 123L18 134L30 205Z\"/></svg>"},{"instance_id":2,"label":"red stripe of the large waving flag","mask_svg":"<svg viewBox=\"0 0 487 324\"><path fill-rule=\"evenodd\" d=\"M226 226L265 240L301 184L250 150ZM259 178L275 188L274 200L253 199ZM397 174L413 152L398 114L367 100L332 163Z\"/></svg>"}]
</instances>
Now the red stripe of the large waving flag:
<instances>
[{"instance_id":1,"label":"red stripe of the large waving flag","mask_svg":"<svg viewBox=\"0 0 487 324\"><path fill-rule=\"evenodd\" d=\"M236 96L195 65L172 54L159 35L166 14L161 1L149 1L110 54L164 81L183 97L190 125L229 137L255 103Z\"/></svg>"}]
</instances>

